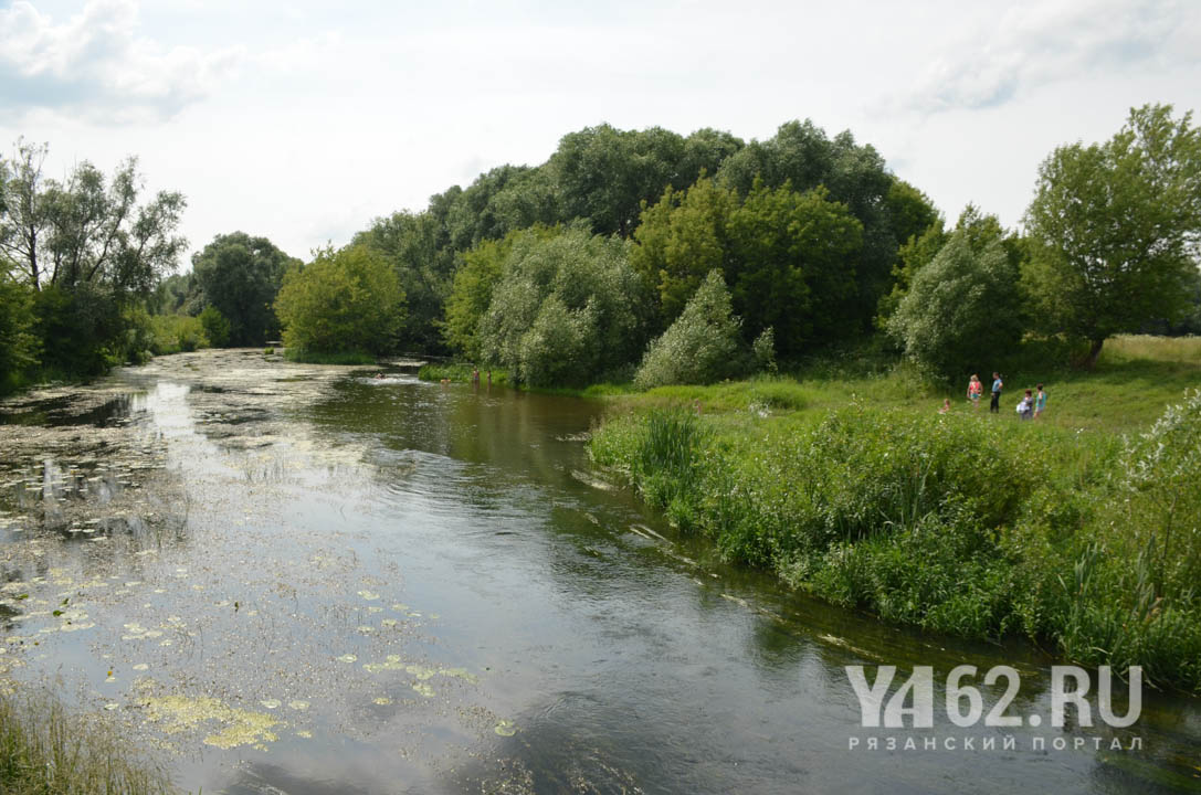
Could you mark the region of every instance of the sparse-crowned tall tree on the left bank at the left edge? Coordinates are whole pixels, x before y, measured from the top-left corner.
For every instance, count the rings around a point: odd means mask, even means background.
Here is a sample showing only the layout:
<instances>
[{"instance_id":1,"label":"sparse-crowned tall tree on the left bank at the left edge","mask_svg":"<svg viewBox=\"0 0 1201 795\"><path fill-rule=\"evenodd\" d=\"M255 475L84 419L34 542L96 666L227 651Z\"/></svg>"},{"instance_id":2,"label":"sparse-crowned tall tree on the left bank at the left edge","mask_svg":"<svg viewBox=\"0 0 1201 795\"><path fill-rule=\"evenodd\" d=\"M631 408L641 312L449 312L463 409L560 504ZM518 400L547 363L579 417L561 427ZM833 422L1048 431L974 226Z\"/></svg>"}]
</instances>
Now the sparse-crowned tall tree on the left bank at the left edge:
<instances>
[{"instance_id":1,"label":"sparse-crowned tall tree on the left bank at the left edge","mask_svg":"<svg viewBox=\"0 0 1201 795\"><path fill-rule=\"evenodd\" d=\"M0 163L0 261L32 293L32 334L46 367L96 373L136 354L132 310L177 267L184 197L142 201L137 160L112 177L88 161L46 178L46 145L19 141Z\"/></svg>"}]
</instances>

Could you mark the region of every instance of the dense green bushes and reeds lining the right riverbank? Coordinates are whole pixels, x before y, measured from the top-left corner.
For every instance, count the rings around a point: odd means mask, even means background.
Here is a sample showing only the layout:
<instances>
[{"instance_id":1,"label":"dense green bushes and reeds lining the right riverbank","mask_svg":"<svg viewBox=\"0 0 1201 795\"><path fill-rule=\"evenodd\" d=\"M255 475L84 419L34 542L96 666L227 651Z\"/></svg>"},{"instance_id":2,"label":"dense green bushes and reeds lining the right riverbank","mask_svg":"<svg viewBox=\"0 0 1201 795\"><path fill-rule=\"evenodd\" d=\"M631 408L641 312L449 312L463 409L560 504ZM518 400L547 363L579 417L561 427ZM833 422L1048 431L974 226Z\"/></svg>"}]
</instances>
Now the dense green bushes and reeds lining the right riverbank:
<instances>
[{"instance_id":1,"label":"dense green bushes and reeds lining the right riverbank","mask_svg":"<svg viewBox=\"0 0 1201 795\"><path fill-rule=\"evenodd\" d=\"M593 460L730 561L883 621L1201 694L1201 391L1135 437L968 414L611 417Z\"/></svg>"}]
</instances>

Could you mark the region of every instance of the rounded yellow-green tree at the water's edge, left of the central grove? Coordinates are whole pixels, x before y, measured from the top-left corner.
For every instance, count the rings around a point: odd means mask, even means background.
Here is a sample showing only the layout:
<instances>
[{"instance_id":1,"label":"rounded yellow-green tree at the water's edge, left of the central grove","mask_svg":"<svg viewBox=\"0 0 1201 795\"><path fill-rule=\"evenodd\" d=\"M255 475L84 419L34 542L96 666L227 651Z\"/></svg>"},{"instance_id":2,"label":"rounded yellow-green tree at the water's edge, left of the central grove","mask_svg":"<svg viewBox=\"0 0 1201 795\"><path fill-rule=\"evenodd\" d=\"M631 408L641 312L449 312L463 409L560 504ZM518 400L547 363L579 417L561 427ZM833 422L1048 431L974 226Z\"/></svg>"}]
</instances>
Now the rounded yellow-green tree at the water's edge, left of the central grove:
<instances>
[{"instance_id":1,"label":"rounded yellow-green tree at the water's edge, left of the central grove","mask_svg":"<svg viewBox=\"0 0 1201 795\"><path fill-rule=\"evenodd\" d=\"M394 351L405 293L388 261L364 245L325 249L283 277L275 299L288 355ZM211 339L211 337L210 337Z\"/></svg>"}]
</instances>

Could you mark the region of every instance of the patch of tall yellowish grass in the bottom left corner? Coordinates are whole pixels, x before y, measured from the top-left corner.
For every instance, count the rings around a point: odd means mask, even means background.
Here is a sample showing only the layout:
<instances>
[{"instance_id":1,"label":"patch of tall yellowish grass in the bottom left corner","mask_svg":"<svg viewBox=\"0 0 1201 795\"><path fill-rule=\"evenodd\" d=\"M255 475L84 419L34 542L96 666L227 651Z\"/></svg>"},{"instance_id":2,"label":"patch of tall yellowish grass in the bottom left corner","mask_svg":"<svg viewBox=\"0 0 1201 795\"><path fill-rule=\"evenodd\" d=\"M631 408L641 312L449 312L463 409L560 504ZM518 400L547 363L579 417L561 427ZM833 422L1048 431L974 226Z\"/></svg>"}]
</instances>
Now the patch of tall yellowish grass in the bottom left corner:
<instances>
[{"instance_id":1,"label":"patch of tall yellowish grass in the bottom left corner","mask_svg":"<svg viewBox=\"0 0 1201 795\"><path fill-rule=\"evenodd\" d=\"M49 693L0 695L0 791L6 795L173 793L166 776L96 718Z\"/></svg>"}]
</instances>

